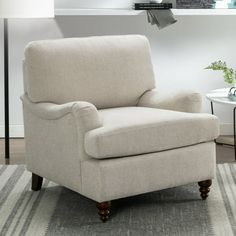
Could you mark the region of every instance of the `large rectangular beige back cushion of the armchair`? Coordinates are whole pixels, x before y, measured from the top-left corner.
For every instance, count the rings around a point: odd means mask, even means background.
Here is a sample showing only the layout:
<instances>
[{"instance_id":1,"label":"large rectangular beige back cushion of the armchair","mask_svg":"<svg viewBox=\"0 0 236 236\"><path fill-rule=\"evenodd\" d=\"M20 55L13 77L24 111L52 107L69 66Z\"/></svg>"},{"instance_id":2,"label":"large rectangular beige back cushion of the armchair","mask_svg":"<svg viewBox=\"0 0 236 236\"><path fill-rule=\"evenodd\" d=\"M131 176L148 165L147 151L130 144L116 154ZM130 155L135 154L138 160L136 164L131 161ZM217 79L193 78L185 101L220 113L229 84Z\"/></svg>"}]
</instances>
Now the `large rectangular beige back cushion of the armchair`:
<instances>
[{"instance_id":1,"label":"large rectangular beige back cushion of the armchair","mask_svg":"<svg viewBox=\"0 0 236 236\"><path fill-rule=\"evenodd\" d=\"M31 42L24 64L32 102L133 106L155 86L149 42L140 35Z\"/></svg>"}]
</instances>

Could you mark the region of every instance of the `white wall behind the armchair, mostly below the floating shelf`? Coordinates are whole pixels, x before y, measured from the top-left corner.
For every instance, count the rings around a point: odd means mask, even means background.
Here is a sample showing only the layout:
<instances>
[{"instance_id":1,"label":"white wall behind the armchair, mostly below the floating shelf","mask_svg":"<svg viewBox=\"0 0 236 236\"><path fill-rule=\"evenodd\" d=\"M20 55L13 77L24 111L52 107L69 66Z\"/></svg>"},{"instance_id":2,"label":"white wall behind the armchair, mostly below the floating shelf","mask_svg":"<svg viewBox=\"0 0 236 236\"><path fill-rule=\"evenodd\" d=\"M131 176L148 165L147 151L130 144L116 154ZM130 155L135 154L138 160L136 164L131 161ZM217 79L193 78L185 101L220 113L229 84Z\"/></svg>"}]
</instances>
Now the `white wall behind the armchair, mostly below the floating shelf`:
<instances>
[{"instance_id":1,"label":"white wall behind the armchair, mostly below the floating shelf","mask_svg":"<svg viewBox=\"0 0 236 236\"><path fill-rule=\"evenodd\" d=\"M73 0L72 0L73 2ZM74 2L76 2L74 0ZM90 0L90 2L93 2ZM94 0L95 2L95 0ZM98 1L97 1L98 2ZM100 2L106 2L105 0ZM110 1L107 1L110 2ZM121 1L126 2L126 1ZM25 45L38 39L109 34L144 34L151 43L157 86L168 93L196 89L205 93L224 87L220 73L203 68L222 59L236 68L236 16L182 16L159 31L146 16L77 16L45 20L10 20L10 123L11 134L21 136L23 93L21 61ZM2 21L0 32L3 32ZM0 34L0 135L3 134L3 38ZM210 112L204 99L203 109ZM231 107L217 106L224 128L231 131Z\"/></svg>"}]
</instances>

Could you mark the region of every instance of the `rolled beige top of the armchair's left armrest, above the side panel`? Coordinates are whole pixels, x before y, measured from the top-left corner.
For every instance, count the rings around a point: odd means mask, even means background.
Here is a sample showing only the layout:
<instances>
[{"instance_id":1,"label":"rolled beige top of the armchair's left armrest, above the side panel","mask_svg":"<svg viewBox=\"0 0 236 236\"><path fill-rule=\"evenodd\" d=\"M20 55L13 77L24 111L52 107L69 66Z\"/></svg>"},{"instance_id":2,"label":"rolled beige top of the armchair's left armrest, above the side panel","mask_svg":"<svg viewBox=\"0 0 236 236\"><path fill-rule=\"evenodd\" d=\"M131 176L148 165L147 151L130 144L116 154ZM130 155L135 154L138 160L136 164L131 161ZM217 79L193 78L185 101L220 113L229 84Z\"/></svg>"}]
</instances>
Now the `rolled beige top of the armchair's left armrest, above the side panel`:
<instances>
[{"instance_id":1,"label":"rolled beige top of the armchair's left armrest, above the side panel","mask_svg":"<svg viewBox=\"0 0 236 236\"><path fill-rule=\"evenodd\" d=\"M91 127L98 128L102 126L102 120L97 108L89 102L77 101L61 105L54 103L33 103L27 95L21 96L21 100L23 105L31 113L43 120L58 120L71 113L77 121L80 121L85 126L85 129L90 130Z\"/></svg>"}]
</instances>

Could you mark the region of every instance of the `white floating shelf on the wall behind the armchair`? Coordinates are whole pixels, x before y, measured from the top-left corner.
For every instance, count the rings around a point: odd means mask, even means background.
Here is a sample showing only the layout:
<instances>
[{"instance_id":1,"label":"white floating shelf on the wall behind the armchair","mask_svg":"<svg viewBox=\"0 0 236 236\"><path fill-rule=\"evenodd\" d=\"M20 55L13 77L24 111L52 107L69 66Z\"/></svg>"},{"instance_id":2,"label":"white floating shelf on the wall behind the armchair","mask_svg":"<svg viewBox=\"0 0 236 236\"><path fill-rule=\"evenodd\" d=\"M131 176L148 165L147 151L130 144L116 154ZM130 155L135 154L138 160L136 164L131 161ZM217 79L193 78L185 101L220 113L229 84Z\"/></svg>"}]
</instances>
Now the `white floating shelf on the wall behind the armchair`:
<instances>
[{"instance_id":1,"label":"white floating shelf on the wall behind the armchair","mask_svg":"<svg viewBox=\"0 0 236 236\"><path fill-rule=\"evenodd\" d=\"M176 16L236 15L236 9L172 9ZM57 16L137 16L145 11L129 9L56 9Z\"/></svg>"}]
</instances>

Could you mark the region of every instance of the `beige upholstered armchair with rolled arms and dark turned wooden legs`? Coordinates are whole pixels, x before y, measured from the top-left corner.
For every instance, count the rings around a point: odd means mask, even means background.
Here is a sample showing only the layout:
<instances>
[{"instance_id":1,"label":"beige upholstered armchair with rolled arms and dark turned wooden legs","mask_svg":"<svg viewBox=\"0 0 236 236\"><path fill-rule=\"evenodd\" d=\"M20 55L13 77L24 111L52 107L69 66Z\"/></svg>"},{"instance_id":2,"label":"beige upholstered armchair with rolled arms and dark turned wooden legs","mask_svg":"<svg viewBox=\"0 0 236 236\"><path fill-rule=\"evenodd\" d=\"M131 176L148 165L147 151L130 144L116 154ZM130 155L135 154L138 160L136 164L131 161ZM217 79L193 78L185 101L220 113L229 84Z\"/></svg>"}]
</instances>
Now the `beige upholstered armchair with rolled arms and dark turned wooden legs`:
<instances>
[{"instance_id":1,"label":"beige upholstered armchair with rolled arms and dark turned wooden legs","mask_svg":"<svg viewBox=\"0 0 236 236\"><path fill-rule=\"evenodd\" d=\"M144 36L32 42L24 87L33 190L43 178L74 190L97 202L103 222L114 199L194 182L207 198L218 120L199 113L196 92L155 90Z\"/></svg>"}]
</instances>

